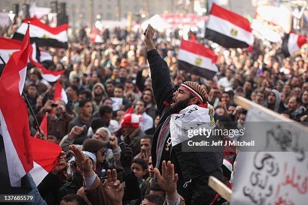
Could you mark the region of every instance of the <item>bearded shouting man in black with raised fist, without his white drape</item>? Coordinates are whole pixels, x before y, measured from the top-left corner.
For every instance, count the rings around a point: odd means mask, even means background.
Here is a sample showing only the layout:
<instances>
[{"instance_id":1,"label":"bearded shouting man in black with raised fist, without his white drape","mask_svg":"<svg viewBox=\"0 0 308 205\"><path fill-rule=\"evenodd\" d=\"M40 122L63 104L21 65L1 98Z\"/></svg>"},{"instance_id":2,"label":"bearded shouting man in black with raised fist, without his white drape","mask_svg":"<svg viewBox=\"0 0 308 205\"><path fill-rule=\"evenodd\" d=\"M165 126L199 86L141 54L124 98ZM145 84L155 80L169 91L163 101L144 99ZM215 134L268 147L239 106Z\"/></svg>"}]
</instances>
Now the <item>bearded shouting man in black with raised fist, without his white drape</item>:
<instances>
[{"instance_id":1,"label":"bearded shouting man in black with raised fist, without his white drape","mask_svg":"<svg viewBox=\"0 0 308 205\"><path fill-rule=\"evenodd\" d=\"M221 180L222 152L182 152L181 146L171 144L170 135L171 115L191 105L210 106L207 104L207 93L195 82L184 82L179 89L172 85L169 67L153 43L154 34L155 30L148 25L144 42L160 116L153 135L152 163L160 171L163 160L170 160L175 165L175 171L179 174L178 193L184 197L186 204L209 204L215 191L208 186L208 177L211 175Z\"/></svg>"}]
</instances>

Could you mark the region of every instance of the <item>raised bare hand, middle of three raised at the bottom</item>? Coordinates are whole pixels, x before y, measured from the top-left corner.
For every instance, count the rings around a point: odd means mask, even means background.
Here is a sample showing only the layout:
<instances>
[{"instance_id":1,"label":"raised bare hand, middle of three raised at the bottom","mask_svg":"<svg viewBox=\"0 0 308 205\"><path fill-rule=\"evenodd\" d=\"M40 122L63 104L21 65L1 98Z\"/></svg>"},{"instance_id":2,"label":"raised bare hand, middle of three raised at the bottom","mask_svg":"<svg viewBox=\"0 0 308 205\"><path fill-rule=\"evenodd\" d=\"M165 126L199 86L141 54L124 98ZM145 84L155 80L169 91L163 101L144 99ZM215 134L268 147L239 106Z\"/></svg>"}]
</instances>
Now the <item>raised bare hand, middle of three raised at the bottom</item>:
<instances>
[{"instance_id":1,"label":"raised bare hand, middle of three raised at the bottom","mask_svg":"<svg viewBox=\"0 0 308 205\"><path fill-rule=\"evenodd\" d=\"M112 202L122 202L124 187L117 180L117 171L115 169L107 171L107 179L103 183L104 192Z\"/></svg>"}]
</instances>

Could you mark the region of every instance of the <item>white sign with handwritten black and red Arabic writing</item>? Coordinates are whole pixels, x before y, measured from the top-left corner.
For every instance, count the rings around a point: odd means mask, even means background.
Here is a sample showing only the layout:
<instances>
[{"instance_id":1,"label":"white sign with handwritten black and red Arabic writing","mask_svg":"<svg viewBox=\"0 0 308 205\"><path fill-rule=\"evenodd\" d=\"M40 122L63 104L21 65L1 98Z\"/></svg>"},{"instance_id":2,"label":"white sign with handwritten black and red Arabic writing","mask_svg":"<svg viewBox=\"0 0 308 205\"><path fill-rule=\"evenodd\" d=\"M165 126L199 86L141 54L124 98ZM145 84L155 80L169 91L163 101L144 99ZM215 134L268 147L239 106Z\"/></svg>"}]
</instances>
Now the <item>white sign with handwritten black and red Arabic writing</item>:
<instances>
[{"instance_id":1,"label":"white sign with handwritten black and red Arabic writing","mask_svg":"<svg viewBox=\"0 0 308 205\"><path fill-rule=\"evenodd\" d=\"M295 129L292 138L277 129L292 126L251 106L247 121L269 122L266 128L246 127L246 134L266 142L266 147L279 151L240 152L234 175L231 204L307 204L308 201L308 133ZM275 122L275 123L271 123ZM280 124L277 127L277 123ZM272 128L271 128L272 125ZM294 125L294 124L293 124ZM290 136L290 135L288 135ZM260 140L260 139L259 139ZM283 152L284 151L284 152Z\"/></svg>"}]
</instances>

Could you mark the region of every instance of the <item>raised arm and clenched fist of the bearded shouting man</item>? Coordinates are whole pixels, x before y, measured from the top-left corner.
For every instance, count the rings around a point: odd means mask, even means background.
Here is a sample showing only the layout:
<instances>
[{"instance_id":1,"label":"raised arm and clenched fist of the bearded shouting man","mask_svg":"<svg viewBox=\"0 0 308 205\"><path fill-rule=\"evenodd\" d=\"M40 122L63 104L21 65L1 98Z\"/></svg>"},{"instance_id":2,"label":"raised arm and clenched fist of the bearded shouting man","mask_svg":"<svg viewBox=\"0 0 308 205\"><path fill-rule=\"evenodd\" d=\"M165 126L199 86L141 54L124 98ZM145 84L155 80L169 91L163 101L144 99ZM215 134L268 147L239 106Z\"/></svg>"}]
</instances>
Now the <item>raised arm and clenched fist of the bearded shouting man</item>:
<instances>
[{"instance_id":1,"label":"raised arm and clenched fist of the bearded shouting man","mask_svg":"<svg viewBox=\"0 0 308 205\"><path fill-rule=\"evenodd\" d=\"M148 25L143 35L147 51L147 60L150 66L152 89L159 111L159 115L164 110L164 101L170 101L176 88L172 85L168 64L161 58L153 42L155 29Z\"/></svg>"}]
</instances>

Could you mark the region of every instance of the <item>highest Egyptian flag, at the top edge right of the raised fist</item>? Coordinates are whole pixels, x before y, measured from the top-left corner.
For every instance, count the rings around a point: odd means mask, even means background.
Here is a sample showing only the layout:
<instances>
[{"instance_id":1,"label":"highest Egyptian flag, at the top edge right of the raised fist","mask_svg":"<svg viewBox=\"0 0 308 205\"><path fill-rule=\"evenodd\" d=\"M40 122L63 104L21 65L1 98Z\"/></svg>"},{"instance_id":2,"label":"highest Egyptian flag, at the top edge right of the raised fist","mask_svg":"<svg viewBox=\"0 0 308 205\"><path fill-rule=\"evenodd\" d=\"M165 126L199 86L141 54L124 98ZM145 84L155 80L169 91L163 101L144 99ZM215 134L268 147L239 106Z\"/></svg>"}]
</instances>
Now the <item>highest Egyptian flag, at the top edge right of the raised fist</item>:
<instances>
[{"instance_id":1,"label":"highest Egyptian flag, at the top edge right of the raised fist","mask_svg":"<svg viewBox=\"0 0 308 205\"><path fill-rule=\"evenodd\" d=\"M205 38L225 48L247 48L254 43L249 21L216 4L209 15Z\"/></svg>"}]
</instances>

